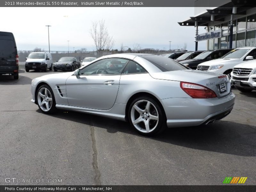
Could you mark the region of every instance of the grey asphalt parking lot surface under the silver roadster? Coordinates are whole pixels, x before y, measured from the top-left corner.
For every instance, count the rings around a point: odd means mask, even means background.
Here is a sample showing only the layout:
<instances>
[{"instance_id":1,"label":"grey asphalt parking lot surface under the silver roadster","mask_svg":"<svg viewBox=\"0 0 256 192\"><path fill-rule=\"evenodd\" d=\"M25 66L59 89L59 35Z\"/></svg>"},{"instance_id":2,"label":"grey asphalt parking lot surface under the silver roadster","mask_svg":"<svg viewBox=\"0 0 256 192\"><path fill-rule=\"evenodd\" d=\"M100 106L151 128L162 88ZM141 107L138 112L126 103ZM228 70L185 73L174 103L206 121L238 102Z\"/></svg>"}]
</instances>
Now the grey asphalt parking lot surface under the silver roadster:
<instances>
[{"instance_id":1,"label":"grey asphalt parking lot surface under the silver roadster","mask_svg":"<svg viewBox=\"0 0 256 192\"><path fill-rule=\"evenodd\" d=\"M144 137L122 121L41 113L30 84L44 74L0 76L0 185L221 185L228 176L256 184L256 91L233 89L235 107L221 121ZM7 177L62 182L6 183Z\"/></svg>"}]
</instances>

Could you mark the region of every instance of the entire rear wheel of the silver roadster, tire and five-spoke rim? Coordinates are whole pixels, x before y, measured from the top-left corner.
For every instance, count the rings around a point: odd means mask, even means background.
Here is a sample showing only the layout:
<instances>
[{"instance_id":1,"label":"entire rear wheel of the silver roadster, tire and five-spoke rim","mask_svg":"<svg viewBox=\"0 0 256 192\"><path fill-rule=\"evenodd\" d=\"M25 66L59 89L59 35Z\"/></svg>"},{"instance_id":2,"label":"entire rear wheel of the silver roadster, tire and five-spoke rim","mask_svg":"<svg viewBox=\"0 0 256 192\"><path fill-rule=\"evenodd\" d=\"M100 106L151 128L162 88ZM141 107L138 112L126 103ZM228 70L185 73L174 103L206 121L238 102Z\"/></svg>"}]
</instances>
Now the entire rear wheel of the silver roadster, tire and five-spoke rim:
<instances>
[{"instance_id":1,"label":"entire rear wheel of the silver roadster, tire and five-spoke rim","mask_svg":"<svg viewBox=\"0 0 256 192\"><path fill-rule=\"evenodd\" d=\"M143 135L153 135L164 128L165 115L159 104L150 97L135 99L129 108L129 121Z\"/></svg>"}]
</instances>

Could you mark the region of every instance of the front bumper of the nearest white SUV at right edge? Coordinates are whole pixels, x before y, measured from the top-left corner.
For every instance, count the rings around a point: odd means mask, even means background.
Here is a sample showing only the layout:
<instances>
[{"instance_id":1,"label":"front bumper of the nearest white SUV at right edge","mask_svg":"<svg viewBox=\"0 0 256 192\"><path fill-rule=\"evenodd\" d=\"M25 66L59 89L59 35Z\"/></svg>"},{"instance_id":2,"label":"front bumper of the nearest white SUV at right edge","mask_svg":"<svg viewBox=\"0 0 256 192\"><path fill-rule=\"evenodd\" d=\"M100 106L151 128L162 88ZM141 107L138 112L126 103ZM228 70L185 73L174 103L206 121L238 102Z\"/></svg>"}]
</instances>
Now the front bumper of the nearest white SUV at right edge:
<instances>
[{"instance_id":1,"label":"front bumper of the nearest white SUV at right edge","mask_svg":"<svg viewBox=\"0 0 256 192\"><path fill-rule=\"evenodd\" d=\"M247 76L233 76L231 78L231 84L238 88L256 90L256 74L249 77Z\"/></svg>"}]
</instances>

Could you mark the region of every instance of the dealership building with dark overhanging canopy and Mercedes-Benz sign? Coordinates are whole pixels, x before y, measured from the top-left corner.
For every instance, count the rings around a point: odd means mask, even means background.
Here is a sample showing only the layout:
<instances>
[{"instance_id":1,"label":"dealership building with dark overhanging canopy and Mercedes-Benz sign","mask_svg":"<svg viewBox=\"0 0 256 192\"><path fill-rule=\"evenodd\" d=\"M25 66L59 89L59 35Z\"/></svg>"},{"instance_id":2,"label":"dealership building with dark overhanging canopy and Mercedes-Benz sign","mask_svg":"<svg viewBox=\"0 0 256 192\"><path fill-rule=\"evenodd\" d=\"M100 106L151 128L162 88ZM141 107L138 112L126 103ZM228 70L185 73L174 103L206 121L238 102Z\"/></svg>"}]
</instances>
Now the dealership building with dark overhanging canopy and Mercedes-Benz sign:
<instances>
[{"instance_id":1,"label":"dealership building with dark overhanging canopy and Mercedes-Benz sign","mask_svg":"<svg viewBox=\"0 0 256 192\"><path fill-rule=\"evenodd\" d=\"M213 6L212 0L196 0L195 16L178 23L196 28L196 50L199 42L206 43L207 50L256 46L254 1L216 0L214 5L218 7L200 7L202 3ZM198 34L200 27L205 32Z\"/></svg>"}]
</instances>

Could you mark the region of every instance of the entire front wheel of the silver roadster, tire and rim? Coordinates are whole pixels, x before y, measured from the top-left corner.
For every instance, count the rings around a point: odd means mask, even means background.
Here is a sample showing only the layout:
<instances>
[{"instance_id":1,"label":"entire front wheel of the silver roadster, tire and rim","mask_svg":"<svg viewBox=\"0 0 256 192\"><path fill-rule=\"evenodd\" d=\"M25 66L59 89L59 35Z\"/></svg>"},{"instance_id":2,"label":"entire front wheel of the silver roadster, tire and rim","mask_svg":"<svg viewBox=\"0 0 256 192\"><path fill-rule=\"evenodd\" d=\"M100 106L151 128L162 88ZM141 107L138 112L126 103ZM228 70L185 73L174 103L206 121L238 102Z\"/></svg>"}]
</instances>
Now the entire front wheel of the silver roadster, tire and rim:
<instances>
[{"instance_id":1,"label":"entire front wheel of the silver roadster, tire and rim","mask_svg":"<svg viewBox=\"0 0 256 192\"><path fill-rule=\"evenodd\" d=\"M36 92L37 105L43 113L52 114L57 108L51 87L44 84Z\"/></svg>"}]
</instances>

